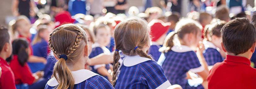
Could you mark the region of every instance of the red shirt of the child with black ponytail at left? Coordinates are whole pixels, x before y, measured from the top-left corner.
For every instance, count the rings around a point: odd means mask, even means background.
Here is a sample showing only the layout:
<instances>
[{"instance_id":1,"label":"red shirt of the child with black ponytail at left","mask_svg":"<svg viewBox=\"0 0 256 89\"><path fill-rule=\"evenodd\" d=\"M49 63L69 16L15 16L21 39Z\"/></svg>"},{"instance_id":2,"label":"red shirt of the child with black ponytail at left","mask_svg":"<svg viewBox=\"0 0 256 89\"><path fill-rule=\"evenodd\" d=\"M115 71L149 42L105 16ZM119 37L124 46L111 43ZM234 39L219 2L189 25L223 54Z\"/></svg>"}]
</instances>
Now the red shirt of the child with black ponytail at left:
<instances>
[{"instance_id":1,"label":"red shirt of the child with black ponytail at left","mask_svg":"<svg viewBox=\"0 0 256 89\"><path fill-rule=\"evenodd\" d=\"M32 75L28 64L25 63L24 66L21 66L17 55L13 56L13 60L10 62L10 67L14 73L15 84L27 83L31 85L34 82L35 78Z\"/></svg>"}]
</instances>

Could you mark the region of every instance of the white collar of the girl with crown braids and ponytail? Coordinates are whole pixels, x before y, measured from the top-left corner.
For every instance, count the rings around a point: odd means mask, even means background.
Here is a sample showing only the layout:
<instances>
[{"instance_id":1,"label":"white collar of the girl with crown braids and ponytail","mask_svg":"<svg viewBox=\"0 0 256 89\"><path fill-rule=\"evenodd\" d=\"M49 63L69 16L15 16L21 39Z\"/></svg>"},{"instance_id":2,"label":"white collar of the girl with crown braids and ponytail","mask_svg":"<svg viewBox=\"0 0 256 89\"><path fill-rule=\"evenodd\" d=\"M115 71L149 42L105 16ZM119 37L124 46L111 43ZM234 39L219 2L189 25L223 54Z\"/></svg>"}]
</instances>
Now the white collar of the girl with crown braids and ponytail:
<instances>
[{"instance_id":1,"label":"white collar of the girl with crown braids and ponytail","mask_svg":"<svg viewBox=\"0 0 256 89\"><path fill-rule=\"evenodd\" d=\"M89 70L86 70L86 69L74 71L74 72L72 72L72 74L74 76L75 84L81 83L95 75L98 75L98 74L91 72ZM54 77L47 82L47 85L49 85L51 87L55 87L58 84L59 83L57 82L57 80Z\"/></svg>"}]
</instances>

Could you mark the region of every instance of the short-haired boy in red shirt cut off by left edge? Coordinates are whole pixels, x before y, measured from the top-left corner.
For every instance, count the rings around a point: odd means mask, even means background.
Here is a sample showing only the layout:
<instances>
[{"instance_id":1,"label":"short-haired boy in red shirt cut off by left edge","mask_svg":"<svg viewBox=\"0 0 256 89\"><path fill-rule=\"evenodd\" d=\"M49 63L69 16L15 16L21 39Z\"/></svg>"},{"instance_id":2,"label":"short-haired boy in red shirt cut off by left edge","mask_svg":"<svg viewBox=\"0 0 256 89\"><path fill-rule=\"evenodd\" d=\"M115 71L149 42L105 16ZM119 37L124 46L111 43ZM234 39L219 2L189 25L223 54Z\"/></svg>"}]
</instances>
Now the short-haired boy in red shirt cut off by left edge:
<instances>
[{"instance_id":1,"label":"short-haired boy in red shirt cut off by left edge","mask_svg":"<svg viewBox=\"0 0 256 89\"><path fill-rule=\"evenodd\" d=\"M0 89L16 89L14 74L6 59L11 56L12 46L8 29L0 27Z\"/></svg>"}]
</instances>

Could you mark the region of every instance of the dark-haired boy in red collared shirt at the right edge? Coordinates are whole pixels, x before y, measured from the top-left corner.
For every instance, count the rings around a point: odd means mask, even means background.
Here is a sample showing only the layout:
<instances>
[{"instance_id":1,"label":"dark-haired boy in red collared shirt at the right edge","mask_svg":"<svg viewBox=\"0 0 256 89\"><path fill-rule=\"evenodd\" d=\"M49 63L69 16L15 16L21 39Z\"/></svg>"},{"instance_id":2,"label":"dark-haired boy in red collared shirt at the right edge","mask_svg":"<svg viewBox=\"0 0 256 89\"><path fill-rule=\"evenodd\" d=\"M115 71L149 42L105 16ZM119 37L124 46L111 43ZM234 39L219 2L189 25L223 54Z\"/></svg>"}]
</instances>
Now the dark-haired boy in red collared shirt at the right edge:
<instances>
[{"instance_id":1,"label":"dark-haired boy in red collared shirt at the right edge","mask_svg":"<svg viewBox=\"0 0 256 89\"><path fill-rule=\"evenodd\" d=\"M249 60L256 46L254 25L246 18L236 18L223 26L221 35L221 47L227 57L211 69L209 89L254 89L256 69Z\"/></svg>"}]
</instances>

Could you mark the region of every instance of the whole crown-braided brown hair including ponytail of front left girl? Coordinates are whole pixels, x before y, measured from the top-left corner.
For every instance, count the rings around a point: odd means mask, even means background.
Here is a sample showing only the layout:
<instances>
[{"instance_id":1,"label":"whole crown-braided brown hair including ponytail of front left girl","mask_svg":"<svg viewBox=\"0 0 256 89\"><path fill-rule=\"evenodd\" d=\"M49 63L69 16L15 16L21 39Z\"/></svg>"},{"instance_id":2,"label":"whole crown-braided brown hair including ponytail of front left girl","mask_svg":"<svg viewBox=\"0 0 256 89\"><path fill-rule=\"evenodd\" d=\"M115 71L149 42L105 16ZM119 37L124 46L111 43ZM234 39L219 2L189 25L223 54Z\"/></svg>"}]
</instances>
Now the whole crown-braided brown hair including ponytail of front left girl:
<instances>
[{"instance_id":1,"label":"whole crown-braided brown hair including ponytail of front left girl","mask_svg":"<svg viewBox=\"0 0 256 89\"><path fill-rule=\"evenodd\" d=\"M60 58L54 66L52 77L59 83L57 89L74 88L74 77L66 63L76 62L76 59L82 56L83 47L87 43L85 31L74 24L61 25L50 34L49 46L56 57L59 58L63 54L68 56L67 60Z\"/></svg>"}]
</instances>

